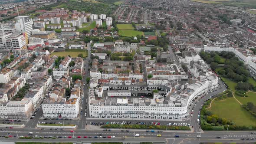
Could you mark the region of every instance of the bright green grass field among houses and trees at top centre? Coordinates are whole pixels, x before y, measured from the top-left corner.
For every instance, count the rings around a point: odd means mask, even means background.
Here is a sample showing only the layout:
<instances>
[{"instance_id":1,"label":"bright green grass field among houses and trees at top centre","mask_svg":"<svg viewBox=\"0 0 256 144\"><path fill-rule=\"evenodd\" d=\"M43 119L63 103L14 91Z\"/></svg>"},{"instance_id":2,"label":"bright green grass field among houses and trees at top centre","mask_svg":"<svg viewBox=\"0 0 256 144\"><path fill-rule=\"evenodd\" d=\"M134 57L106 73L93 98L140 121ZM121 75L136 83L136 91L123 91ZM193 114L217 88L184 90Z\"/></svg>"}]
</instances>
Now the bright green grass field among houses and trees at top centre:
<instances>
[{"instance_id":1,"label":"bright green grass field among houses and trees at top centre","mask_svg":"<svg viewBox=\"0 0 256 144\"><path fill-rule=\"evenodd\" d=\"M137 30L134 30L134 27L131 26L131 24L118 24L118 34L121 36L137 36L137 35L144 35L143 32L139 32Z\"/></svg>"}]
</instances>

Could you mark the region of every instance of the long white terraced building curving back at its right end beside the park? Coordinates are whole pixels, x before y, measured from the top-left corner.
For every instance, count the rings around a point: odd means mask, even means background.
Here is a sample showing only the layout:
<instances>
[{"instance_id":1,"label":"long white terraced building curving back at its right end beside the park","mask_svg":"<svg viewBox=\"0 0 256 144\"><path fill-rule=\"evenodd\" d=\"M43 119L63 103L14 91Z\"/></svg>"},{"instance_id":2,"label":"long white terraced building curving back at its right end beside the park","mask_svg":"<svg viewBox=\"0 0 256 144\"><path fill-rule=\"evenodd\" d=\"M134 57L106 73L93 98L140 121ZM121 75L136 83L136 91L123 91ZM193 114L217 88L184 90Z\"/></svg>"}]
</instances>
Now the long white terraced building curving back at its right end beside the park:
<instances>
[{"instance_id":1,"label":"long white terraced building curving back at its right end beside the park","mask_svg":"<svg viewBox=\"0 0 256 144\"><path fill-rule=\"evenodd\" d=\"M210 73L193 84L183 85L172 92L166 99L158 93L154 98L112 98L95 99L94 90L90 89L89 115L92 118L154 118L178 119L187 117L187 106L197 95L216 88L218 78Z\"/></svg>"}]
</instances>

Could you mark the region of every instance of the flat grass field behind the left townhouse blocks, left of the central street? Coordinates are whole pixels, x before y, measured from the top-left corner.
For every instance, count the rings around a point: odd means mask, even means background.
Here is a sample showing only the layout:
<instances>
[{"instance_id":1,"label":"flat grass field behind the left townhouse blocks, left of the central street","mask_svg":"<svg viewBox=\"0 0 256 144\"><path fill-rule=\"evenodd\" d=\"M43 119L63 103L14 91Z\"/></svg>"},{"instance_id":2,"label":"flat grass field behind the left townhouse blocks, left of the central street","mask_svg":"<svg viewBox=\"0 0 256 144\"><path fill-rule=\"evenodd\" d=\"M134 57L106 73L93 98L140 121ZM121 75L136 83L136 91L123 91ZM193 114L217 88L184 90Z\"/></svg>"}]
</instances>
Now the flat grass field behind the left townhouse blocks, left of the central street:
<instances>
[{"instance_id":1,"label":"flat grass field behind the left townhouse blocks, left of the central street","mask_svg":"<svg viewBox=\"0 0 256 144\"><path fill-rule=\"evenodd\" d=\"M84 57L88 55L86 49L65 49L65 52L53 52L51 56L71 56L72 58L76 58L79 53L82 53Z\"/></svg>"}]
</instances>

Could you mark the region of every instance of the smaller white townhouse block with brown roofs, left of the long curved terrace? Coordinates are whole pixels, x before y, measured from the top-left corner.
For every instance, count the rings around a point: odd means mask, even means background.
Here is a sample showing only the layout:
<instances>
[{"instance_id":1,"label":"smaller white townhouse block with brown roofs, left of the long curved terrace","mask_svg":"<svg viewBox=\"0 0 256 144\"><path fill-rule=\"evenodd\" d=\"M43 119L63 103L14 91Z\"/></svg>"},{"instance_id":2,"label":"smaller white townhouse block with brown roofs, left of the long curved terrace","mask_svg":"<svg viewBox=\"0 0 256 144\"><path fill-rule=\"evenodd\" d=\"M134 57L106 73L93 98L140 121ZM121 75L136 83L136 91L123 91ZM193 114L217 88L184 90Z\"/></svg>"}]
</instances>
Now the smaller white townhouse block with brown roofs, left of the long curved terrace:
<instances>
[{"instance_id":1,"label":"smaller white townhouse block with brown roofs, left of the long curved terrace","mask_svg":"<svg viewBox=\"0 0 256 144\"><path fill-rule=\"evenodd\" d=\"M76 80L69 99L66 99L66 88L70 88L72 78L66 75L59 79L58 84L43 102L43 117L46 118L77 118L81 81Z\"/></svg>"}]
</instances>

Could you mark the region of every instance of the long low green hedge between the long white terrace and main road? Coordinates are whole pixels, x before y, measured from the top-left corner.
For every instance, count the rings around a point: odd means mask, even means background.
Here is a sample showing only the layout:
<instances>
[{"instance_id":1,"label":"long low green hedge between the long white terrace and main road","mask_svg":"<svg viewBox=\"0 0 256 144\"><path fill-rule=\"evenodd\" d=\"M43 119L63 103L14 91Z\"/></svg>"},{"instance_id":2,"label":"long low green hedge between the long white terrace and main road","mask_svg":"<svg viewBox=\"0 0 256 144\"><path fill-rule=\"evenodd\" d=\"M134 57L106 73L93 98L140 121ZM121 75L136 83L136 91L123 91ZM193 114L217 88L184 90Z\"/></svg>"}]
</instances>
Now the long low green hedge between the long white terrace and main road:
<instances>
[{"instance_id":1,"label":"long low green hedge between the long white terrace and main road","mask_svg":"<svg viewBox=\"0 0 256 144\"><path fill-rule=\"evenodd\" d=\"M120 124L105 124L101 128L120 128ZM122 128L127 129L159 129L166 130L165 125L141 125L141 124L122 124ZM188 126L167 126L167 130L190 130Z\"/></svg>"}]
</instances>

